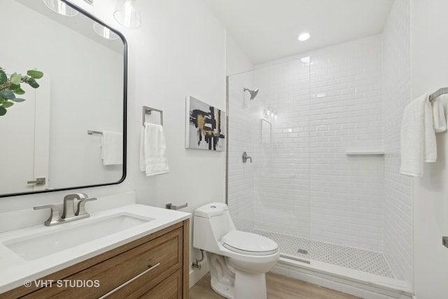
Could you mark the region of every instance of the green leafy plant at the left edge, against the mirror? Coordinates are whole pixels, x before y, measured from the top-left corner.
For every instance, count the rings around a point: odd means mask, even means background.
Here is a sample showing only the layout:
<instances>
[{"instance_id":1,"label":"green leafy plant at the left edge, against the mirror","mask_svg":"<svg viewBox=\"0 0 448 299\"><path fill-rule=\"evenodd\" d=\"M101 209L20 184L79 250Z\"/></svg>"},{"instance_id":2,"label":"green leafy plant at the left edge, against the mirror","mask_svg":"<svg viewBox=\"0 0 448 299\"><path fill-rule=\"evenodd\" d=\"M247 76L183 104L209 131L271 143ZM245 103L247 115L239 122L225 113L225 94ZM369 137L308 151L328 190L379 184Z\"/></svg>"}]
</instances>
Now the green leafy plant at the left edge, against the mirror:
<instances>
[{"instance_id":1,"label":"green leafy plant at the left edge, against the mirror","mask_svg":"<svg viewBox=\"0 0 448 299\"><path fill-rule=\"evenodd\" d=\"M38 88L36 80L42 77L41 71L30 69L26 76L14 73L8 78L4 69L0 67L0 116L4 116L8 112L6 109L13 106L14 103L25 101L25 99L15 96L25 94L25 90L20 88L20 83L28 84L31 88Z\"/></svg>"}]
</instances>

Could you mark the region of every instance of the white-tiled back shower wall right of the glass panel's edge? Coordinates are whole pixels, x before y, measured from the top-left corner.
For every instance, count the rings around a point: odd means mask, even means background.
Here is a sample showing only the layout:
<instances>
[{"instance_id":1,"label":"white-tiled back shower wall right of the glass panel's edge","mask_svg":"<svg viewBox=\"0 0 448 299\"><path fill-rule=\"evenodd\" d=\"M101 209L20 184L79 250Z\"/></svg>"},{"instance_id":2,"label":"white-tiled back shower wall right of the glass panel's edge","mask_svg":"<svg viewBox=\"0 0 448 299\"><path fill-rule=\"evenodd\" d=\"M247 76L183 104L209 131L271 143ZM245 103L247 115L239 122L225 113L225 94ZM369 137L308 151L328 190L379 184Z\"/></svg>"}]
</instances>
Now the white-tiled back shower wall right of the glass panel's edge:
<instances>
[{"instance_id":1,"label":"white-tiled back shower wall right of the glass panel's edge","mask_svg":"<svg viewBox=\"0 0 448 299\"><path fill-rule=\"evenodd\" d=\"M311 239L383 246L381 36L311 53ZM319 97L319 95L324 95Z\"/></svg>"}]
</instances>

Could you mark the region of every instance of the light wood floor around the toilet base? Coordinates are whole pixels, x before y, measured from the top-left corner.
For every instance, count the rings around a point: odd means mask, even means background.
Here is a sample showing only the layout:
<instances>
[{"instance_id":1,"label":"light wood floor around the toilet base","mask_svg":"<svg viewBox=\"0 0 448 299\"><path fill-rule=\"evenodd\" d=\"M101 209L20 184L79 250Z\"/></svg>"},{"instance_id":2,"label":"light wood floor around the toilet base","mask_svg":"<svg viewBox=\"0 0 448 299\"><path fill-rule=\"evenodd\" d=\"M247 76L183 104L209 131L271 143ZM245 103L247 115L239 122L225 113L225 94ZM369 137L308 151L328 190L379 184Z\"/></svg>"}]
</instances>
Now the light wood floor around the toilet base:
<instances>
[{"instance_id":1,"label":"light wood floor around the toilet base","mask_svg":"<svg viewBox=\"0 0 448 299\"><path fill-rule=\"evenodd\" d=\"M322 286L309 284L279 274L266 274L268 299L358 299ZM190 299L221 299L210 286L210 273L190 288Z\"/></svg>"}]
</instances>

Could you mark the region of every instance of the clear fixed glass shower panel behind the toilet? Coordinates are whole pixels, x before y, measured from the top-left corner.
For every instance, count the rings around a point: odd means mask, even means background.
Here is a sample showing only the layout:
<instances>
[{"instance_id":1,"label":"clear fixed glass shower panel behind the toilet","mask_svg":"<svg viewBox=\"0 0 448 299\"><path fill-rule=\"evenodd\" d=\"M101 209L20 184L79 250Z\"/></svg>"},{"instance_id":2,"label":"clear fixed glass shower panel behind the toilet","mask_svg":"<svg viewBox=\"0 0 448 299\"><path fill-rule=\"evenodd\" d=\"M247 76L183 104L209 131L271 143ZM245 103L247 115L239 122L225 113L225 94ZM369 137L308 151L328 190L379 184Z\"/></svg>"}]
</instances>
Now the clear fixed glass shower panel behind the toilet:
<instances>
[{"instance_id":1,"label":"clear fixed glass shower panel behind the toilet","mask_svg":"<svg viewBox=\"0 0 448 299\"><path fill-rule=\"evenodd\" d=\"M306 257L310 235L309 62L228 77L228 204L237 229ZM249 92L258 89L250 100ZM242 162L246 153L252 162ZM303 238L303 239L302 239Z\"/></svg>"}]
</instances>

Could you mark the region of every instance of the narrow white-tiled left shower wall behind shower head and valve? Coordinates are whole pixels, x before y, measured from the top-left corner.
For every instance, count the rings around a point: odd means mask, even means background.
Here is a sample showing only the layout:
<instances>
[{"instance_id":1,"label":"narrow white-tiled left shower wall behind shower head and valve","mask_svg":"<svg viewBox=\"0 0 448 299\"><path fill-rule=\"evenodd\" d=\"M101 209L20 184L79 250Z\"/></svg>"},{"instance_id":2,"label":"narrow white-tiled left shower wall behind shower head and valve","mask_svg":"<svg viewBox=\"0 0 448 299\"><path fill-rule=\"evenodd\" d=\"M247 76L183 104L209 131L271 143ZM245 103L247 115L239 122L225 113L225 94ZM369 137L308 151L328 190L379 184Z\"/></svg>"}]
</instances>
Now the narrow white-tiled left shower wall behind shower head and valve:
<instances>
[{"instance_id":1,"label":"narrow white-tiled left shower wall behind shower head and valve","mask_svg":"<svg viewBox=\"0 0 448 299\"><path fill-rule=\"evenodd\" d=\"M259 117L256 102L244 88L253 86L253 72L248 71L228 77L228 140L227 140L227 201L230 215L238 230L252 231L253 225L253 176L258 157L253 155L253 144ZM256 100L256 99L255 99ZM243 162L246 152L252 161Z\"/></svg>"}]
</instances>

